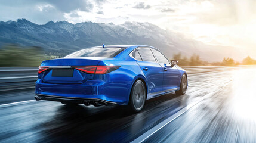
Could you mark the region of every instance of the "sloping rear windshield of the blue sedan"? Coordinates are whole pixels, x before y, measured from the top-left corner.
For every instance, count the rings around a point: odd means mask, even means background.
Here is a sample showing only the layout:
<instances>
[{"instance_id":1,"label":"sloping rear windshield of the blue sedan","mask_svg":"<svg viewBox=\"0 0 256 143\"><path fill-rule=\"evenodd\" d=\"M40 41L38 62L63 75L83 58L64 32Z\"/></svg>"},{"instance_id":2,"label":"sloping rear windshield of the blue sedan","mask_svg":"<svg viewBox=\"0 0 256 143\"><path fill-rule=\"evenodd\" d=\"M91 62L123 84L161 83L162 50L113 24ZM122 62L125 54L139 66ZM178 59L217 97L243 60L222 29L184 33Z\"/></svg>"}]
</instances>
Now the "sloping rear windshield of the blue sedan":
<instances>
[{"instance_id":1,"label":"sloping rear windshield of the blue sedan","mask_svg":"<svg viewBox=\"0 0 256 143\"><path fill-rule=\"evenodd\" d=\"M124 51L125 48L86 48L78 52L74 52L67 55L64 58L76 58L76 57L106 57L113 58L120 52Z\"/></svg>"}]
</instances>

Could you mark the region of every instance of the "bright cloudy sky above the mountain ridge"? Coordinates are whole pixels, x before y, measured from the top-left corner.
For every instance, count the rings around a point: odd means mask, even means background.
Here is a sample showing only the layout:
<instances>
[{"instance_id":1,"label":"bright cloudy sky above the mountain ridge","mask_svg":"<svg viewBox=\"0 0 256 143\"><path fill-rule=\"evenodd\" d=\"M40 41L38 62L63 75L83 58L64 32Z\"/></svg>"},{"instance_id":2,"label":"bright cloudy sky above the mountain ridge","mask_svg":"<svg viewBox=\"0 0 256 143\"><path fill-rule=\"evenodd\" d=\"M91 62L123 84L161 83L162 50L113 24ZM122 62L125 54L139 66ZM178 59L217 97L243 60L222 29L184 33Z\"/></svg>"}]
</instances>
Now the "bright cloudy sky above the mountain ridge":
<instances>
[{"instance_id":1,"label":"bright cloudy sky above the mountain ridge","mask_svg":"<svg viewBox=\"0 0 256 143\"><path fill-rule=\"evenodd\" d=\"M211 45L256 55L255 0L0 0L0 21L149 22Z\"/></svg>"}]
</instances>

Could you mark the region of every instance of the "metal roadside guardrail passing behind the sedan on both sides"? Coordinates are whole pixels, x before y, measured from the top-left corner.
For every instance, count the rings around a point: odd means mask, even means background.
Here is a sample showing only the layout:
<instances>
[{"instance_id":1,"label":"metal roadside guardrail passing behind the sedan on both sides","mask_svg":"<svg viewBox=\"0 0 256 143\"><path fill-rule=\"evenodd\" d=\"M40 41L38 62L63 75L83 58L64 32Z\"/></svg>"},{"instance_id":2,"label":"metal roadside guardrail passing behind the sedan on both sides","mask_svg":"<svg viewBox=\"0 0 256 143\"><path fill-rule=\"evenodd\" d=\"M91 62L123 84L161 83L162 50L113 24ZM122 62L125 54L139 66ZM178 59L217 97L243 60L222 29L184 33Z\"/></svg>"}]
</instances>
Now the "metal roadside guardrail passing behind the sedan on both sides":
<instances>
[{"instance_id":1,"label":"metal roadside guardrail passing behind the sedan on both sides","mask_svg":"<svg viewBox=\"0 0 256 143\"><path fill-rule=\"evenodd\" d=\"M182 67L188 74L224 71L253 66L195 66ZM18 89L33 89L38 79L38 67L0 67L0 94L1 92Z\"/></svg>"}]
</instances>

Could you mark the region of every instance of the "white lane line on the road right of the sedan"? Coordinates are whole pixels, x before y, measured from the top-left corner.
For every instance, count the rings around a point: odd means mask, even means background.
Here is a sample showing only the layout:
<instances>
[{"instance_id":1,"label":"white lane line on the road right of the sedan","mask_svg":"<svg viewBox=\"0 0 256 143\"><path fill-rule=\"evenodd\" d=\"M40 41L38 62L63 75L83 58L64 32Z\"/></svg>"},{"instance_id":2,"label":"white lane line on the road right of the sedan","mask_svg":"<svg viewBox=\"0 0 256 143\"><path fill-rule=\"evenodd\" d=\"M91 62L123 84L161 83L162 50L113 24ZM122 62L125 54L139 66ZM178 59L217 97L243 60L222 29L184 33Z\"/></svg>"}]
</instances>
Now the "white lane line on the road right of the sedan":
<instances>
[{"instance_id":1,"label":"white lane line on the road right of the sedan","mask_svg":"<svg viewBox=\"0 0 256 143\"><path fill-rule=\"evenodd\" d=\"M180 117L182 114L186 113L190 108L192 107L197 107L199 102L204 100L205 97L202 97L199 101L196 101L192 104L187 105L177 113L173 114L172 116L168 117L168 119L165 119L163 122L159 123L158 125L154 126L147 132L143 133L141 136L138 136L138 138L134 139L131 143L138 143L138 142L143 142L150 136L152 136L154 133L158 132L158 130L162 129L164 126L168 125L168 123L171 123L173 120L177 119L177 117Z\"/></svg>"}]
</instances>

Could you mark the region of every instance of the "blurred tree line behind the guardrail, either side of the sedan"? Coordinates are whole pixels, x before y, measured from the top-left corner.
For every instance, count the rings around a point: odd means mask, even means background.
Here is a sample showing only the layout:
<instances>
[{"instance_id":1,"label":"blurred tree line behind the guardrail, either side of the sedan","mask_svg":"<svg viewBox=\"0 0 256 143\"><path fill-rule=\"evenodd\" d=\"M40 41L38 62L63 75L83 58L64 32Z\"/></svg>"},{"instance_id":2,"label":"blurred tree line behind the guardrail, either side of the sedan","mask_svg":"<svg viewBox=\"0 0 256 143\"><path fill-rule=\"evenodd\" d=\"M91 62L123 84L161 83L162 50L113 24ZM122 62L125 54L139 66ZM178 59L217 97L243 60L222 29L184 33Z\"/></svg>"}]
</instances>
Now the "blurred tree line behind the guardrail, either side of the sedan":
<instances>
[{"instance_id":1,"label":"blurred tree line behind the guardrail, either side of the sedan","mask_svg":"<svg viewBox=\"0 0 256 143\"><path fill-rule=\"evenodd\" d=\"M67 53L61 51L44 51L38 46L23 47L14 44L4 45L0 48L0 66L39 66L42 61L53 58L61 58ZM256 64L256 60L246 57L242 63L236 62L232 58L223 58L221 62L203 61L199 55L193 54L185 57L181 53L174 54L173 59L178 60L179 66L233 66L240 64Z\"/></svg>"}]
</instances>

